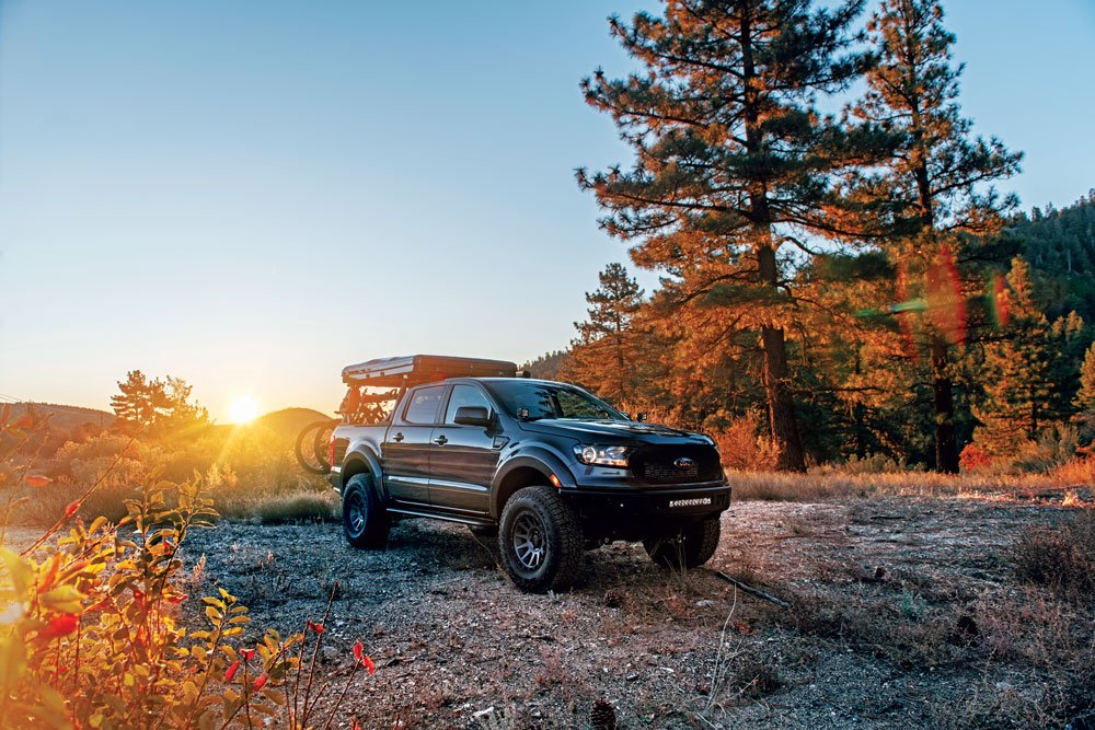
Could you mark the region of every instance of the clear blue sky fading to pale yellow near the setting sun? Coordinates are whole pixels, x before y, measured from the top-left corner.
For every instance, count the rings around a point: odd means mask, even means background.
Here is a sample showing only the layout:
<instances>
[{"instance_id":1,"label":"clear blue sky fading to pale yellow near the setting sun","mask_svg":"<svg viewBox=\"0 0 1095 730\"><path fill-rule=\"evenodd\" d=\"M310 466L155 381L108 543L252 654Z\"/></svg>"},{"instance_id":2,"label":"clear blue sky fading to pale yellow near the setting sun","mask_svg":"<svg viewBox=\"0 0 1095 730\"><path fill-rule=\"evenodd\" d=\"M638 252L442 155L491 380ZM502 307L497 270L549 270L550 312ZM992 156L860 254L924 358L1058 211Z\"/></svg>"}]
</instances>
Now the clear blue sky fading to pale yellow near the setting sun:
<instances>
[{"instance_id":1,"label":"clear blue sky fading to pale yellow near the setting sun","mask_svg":"<svg viewBox=\"0 0 1095 730\"><path fill-rule=\"evenodd\" d=\"M0 393L105 407L139 368L221 419L331 410L347 362L563 347L626 260L578 81L642 7L0 0ZM966 113L1026 152L1002 188L1086 194L1095 4L946 7Z\"/></svg>"}]
</instances>

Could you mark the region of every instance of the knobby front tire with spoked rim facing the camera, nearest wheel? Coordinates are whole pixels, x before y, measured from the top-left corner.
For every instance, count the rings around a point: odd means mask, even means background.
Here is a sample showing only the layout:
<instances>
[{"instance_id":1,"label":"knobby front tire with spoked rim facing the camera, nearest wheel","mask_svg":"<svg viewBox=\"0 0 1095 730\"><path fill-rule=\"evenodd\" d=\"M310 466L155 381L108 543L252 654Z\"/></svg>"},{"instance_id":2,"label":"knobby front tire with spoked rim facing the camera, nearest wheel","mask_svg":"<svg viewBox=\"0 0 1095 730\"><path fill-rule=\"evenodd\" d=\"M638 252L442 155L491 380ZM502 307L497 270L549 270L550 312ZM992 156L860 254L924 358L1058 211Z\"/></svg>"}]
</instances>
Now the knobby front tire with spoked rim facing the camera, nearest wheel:
<instances>
[{"instance_id":1,"label":"knobby front tire with spoked rim facing the camera, nearest wheel","mask_svg":"<svg viewBox=\"0 0 1095 730\"><path fill-rule=\"evenodd\" d=\"M577 514L551 487L525 487L502 510L502 564L529 593L568 588L581 571L585 540Z\"/></svg>"}]
</instances>

